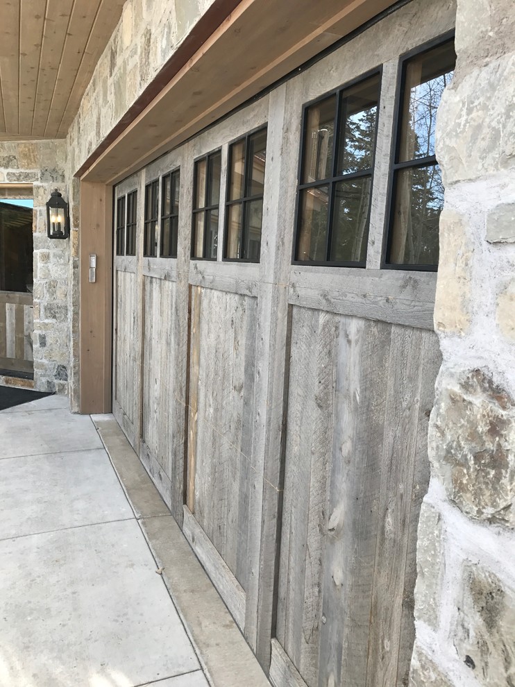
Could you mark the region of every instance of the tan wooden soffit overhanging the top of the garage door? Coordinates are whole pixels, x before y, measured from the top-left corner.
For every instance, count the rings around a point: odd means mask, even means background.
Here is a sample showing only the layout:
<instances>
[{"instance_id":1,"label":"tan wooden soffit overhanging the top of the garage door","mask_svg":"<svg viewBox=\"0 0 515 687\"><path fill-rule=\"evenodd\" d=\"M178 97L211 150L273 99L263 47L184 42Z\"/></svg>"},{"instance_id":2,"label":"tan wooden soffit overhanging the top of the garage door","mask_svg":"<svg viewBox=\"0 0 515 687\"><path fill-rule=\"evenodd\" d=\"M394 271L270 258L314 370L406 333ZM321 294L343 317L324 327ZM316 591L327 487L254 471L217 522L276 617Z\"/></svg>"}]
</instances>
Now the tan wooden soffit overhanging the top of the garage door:
<instances>
[{"instance_id":1,"label":"tan wooden soffit overhanging the top of the garage door","mask_svg":"<svg viewBox=\"0 0 515 687\"><path fill-rule=\"evenodd\" d=\"M171 58L158 94L135 103L78 176L117 183L394 4L242 0L193 55Z\"/></svg>"}]
</instances>

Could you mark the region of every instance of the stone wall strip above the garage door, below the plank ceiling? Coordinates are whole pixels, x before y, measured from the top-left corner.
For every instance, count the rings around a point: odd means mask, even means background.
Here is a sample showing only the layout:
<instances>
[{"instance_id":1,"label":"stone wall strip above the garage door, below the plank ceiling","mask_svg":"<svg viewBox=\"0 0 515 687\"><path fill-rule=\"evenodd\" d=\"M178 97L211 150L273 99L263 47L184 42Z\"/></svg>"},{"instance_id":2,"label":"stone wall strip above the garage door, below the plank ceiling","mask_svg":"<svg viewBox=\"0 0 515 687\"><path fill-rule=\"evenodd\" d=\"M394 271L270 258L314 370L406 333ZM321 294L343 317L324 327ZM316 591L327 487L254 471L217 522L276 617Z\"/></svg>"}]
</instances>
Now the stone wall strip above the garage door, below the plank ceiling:
<instances>
[{"instance_id":1,"label":"stone wall strip above the garage door, below the plank ceiling","mask_svg":"<svg viewBox=\"0 0 515 687\"><path fill-rule=\"evenodd\" d=\"M124 116L213 0L127 0L68 133L74 173Z\"/></svg>"}]
</instances>

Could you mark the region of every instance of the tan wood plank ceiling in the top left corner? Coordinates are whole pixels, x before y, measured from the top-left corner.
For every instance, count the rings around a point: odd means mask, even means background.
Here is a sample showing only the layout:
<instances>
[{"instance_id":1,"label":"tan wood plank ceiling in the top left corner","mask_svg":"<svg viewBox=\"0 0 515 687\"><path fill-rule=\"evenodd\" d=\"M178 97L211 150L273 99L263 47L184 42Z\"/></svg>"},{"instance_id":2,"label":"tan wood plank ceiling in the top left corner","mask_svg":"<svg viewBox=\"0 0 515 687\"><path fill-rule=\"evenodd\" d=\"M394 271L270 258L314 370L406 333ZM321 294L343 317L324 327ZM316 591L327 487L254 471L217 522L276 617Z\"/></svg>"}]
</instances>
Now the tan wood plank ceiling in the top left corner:
<instances>
[{"instance_id":1,"label":"tan wood plank ceiling in the top left corner","mask_svg":"<svg viewBox=\"0 0 515 687\"><path fill-rule=\"evenodd\" d=\"M67 135L124 0L0 0L0 139Z\"/></svg>"}]
</instances>

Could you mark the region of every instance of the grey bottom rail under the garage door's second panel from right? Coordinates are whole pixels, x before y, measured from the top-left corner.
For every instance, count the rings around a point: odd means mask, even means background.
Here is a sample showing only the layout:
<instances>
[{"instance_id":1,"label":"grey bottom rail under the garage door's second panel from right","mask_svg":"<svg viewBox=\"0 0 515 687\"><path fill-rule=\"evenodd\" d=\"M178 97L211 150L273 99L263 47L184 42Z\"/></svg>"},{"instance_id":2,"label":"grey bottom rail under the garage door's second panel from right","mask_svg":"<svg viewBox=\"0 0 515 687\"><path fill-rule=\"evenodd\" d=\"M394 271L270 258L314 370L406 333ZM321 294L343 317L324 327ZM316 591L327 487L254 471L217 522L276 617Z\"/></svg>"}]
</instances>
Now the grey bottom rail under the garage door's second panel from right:
<instances>
[{"instance_id":1,"label":"grey bottom rail under the garage door's second panel from right","mask_svg":"<svg viewBox=\"0 0 515 687\"><path fill-rule=\"evenodd\" d=\"M245 592L187 506L183 532L239 627L245 621Z\"/></svg>"}]
</instances>

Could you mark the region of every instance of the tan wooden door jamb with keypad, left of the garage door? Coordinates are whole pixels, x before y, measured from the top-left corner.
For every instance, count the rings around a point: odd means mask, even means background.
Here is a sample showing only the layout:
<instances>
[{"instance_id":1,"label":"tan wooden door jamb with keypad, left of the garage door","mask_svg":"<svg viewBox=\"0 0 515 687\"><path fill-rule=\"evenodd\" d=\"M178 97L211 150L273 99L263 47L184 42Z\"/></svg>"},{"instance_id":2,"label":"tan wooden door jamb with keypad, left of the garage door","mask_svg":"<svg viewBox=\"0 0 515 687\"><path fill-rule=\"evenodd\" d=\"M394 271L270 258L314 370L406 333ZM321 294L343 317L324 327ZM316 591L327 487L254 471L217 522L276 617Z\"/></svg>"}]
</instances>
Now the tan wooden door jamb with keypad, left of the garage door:
<instances>
[{"instance_id":1,"label":"tan wooden door jamb with keypad, left of the garage door","mask_svg":"<svg viewBox=\"0 0 515 687\"><path fill-rule=\"evenodd\" d=\"M111 412L112 187L81 183L81 413ZM96 282L89 280L96 255Z\"/></svg>"}]
</instances>

